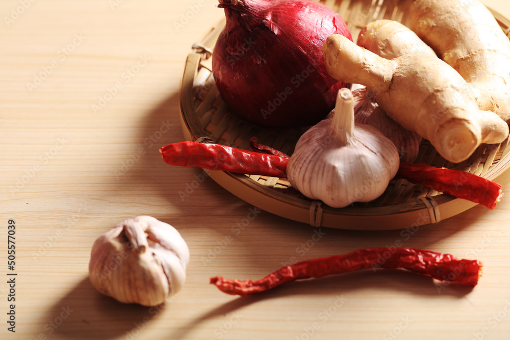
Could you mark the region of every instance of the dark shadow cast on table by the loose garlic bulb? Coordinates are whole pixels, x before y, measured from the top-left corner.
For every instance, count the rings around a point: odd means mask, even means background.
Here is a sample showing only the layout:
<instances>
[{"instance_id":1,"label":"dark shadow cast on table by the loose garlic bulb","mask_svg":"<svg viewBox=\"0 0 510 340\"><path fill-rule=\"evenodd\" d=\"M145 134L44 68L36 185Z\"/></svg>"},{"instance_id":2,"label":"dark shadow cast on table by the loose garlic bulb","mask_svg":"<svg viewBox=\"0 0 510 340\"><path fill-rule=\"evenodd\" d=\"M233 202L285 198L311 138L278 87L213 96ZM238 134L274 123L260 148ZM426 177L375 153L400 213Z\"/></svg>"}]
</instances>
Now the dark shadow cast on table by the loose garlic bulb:
<instances>
[{"instance_id":1,"label":"dark shadow cast on table by the loose garlic bulb","mask_svg":"<svg viewBox=\"0 0 510 340\"><path fill-rule=\"evenodd\" d=\"M98 293L86 277L44 313L40 329L46 336L42 338L55 334L69 339L130 339L163 308L117 302Z\"/></svg>"}]
</instances>

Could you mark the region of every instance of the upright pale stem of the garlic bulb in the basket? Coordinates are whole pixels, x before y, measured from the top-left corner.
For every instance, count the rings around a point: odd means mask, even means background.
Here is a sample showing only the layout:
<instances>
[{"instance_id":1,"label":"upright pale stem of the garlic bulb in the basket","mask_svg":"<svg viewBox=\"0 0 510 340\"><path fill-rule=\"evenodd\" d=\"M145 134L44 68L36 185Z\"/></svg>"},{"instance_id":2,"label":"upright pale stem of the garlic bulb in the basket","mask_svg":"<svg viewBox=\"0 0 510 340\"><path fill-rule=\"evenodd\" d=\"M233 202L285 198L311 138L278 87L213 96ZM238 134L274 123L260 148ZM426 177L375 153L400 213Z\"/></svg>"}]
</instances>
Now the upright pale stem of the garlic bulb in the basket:
<instances>
[{"instance_id":1,"label":"upright pale stem of the garlic bulb in the basket","mask_svg":"<svg viewBox=\"0 0 510 340\"><path fill-rule=\"evenodd\" d=\"M329 125L328 133L331 138L339 141L342 145L348 145L355 141L354 99L352 92L347 88L338 91L335 115Z\"/></svg>"}]
</instances>

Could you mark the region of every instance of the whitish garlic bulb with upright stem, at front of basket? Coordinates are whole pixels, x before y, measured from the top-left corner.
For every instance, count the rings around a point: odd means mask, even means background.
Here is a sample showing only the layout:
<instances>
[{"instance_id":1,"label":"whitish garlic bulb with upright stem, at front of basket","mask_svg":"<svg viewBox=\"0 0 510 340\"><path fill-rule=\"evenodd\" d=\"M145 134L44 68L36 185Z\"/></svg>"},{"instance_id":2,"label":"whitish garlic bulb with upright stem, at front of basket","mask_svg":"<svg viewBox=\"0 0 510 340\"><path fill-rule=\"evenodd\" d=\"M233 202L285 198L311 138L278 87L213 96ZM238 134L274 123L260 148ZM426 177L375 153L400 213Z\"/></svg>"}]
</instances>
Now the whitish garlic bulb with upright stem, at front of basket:
<instances>
[{"instance_id":1,"label":"whitish garlic bulb with upright stem, at front of basket","mask_svg":"<svg viewBox=\"0 0 510 340\"><path fill-rule=\"evenodd\" d=\"M354 124L352 92L338 92L333 118L299 138L287 165L291 185L331 207L379 197L397 173L395 145L376 128Z\"/></svg>"}]
</instances>

